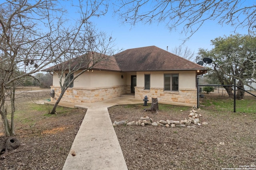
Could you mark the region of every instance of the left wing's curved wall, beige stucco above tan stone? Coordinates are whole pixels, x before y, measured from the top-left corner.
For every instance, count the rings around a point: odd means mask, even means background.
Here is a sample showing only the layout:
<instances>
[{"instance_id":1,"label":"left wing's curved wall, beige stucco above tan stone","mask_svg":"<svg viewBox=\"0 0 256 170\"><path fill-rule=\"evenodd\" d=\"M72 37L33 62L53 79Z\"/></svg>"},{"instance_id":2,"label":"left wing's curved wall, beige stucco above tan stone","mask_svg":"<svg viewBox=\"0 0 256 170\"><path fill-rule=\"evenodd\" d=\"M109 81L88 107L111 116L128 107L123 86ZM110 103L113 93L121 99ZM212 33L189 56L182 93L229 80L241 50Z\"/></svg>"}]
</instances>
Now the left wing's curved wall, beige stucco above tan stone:
<instances>
[{"instance_id":1,"label":"left wing's curved wall, beige stucco above tan stone","mask_svg":"<svg viewBox=\"0 0 256 170\"><path fill-rule=\"evenodd\" d=\"M75 72L74 76L79 74L79 72ZM99 70L94 70L93 72L86 71L76 78L73 88L66 90L62 101L91 103L115 98L121 94L127 93L130 89L130 87L126 85L126 80L128 80L126 73ZM58 74L54 74L51 89L55 90L56 95L52 100L57 100L60 95L59 81ZM62 84L63 82L64 80L62 80Z\"/></svg>"}]
</instances>

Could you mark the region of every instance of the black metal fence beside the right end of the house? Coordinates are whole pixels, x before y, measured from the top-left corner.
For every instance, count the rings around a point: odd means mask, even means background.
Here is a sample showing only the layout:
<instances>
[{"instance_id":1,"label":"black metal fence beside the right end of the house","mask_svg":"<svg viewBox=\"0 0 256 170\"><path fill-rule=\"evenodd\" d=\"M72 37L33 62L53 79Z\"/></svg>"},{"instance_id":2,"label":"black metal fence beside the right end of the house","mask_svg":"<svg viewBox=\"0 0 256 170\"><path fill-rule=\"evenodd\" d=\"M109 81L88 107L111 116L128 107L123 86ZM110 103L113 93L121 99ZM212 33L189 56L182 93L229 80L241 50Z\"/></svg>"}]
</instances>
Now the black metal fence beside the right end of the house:
<instances>
[{"instance_id":1,"label":"black metal fence beside the right end of the house","mask_svg":"<svg viewBox=\"0 0 256 170\"><path fill-rule=\"evenodd\" d=\"M199 85L198 84L198 80L197 80L197 107L199 108L200 103L203 104L204 101L206 101L206 94L202 93L202 87L204 86L213 86L215 87L214 89L217 90L218 92L215 92L215 95L211 95L210 97L215 97L216 100L219 99L223 99L226 100L226 104L230 104L230 100L232 100L233 105L234 105L234 112L236 112L236 90L239 88L241 90L243 90L245 93L249 94L250 97L253 97L254 99L256 99L256 95L252 94L249 91L246 91L242 88L240 88L239 86L236 86L236 80L234 80L234 84L233 85L220 85L220 84L204 84L204 85ZM226 90L224 90L223 86L232 86L232 90L234 93L234 97L232 99L229 98L229 96L226 94ZM209 96L207 96L209 97ZM247 97L248 98L248 97Z\"/></svg>"}]
</instances>

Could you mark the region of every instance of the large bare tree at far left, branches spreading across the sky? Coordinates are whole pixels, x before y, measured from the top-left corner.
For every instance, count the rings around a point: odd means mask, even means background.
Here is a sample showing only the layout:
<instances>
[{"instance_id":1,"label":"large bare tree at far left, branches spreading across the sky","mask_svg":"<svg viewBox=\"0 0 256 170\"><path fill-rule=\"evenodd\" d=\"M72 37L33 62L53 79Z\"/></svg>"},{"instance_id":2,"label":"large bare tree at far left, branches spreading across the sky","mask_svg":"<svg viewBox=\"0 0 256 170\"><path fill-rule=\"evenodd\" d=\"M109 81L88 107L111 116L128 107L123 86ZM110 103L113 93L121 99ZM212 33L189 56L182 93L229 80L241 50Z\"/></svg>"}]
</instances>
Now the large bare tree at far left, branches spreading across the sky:
<instances>
[{"instance_id":1,"label":"large bare tree at far left, branches spreading across the sky","mask_svg":"<svg viewBox=\"0 0 256 170\"><path fill-rule=\"evenodd\" d=\"M62 1L6 0L0 4L0 115L6 136L14 135L17 80L60 57L83 52L77 49L78 39L92 25L91 18L106 14L108 4L104 0L79 0L68 8L77 12L76 18L68 16Z\"/></svg>"}]
</instances>

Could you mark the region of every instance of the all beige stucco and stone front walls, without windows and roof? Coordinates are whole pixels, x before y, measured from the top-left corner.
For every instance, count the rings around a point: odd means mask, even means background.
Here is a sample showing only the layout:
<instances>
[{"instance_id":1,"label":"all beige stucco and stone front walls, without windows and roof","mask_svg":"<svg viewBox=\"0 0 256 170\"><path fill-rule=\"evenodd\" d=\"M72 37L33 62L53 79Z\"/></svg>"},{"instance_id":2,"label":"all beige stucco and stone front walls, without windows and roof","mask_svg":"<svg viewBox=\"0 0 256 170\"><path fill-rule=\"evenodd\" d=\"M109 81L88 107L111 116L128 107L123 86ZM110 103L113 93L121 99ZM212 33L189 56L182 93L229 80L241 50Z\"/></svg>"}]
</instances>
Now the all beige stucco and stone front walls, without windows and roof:
<instances>
[{"instance_id":1,"label":"all beige stucco and stone front walls, without windows and roof","mask_svg":"<svg viewBox=\"0 0 256 170\"><path fill-rule=\"evenodd\" d=\"M164 91L164 74L167 73L179 74L179 90L177 92ZM144 90L144 74L150 74L150 90ZM161 102L173 102L174 104L186 104L187 106L196 105L196 71L131 73L89 71L83 73L75 80L74 87L66 91L62 101L90 103L130 93L132 75L137 76L135 98L143 99L144 96L148 96L151 100L152 97L157 97ZM58 96L60 93L58 75L53 77L52 89L56 91L56 96Z\"/></svg>"}]
</instances>

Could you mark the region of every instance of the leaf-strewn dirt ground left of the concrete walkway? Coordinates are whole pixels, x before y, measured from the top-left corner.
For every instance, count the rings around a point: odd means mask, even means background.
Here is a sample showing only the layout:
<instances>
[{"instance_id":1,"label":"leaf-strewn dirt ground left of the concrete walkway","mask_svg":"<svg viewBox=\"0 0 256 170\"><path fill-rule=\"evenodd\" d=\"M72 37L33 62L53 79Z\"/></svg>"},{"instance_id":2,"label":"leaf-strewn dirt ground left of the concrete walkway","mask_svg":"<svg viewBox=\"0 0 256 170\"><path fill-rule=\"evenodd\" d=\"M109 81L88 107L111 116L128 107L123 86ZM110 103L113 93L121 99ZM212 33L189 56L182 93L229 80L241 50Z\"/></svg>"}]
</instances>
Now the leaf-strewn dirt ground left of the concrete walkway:
<instances>
[{"instance_id":1,"label":"leaf-strewn dirt ground left of the concrete walkway","mask_svg":"<svg viewBox=\"0 0 256 170\"><path fill-rule=\"evenodd\" d=\"M1 170L61 170L85 112L80 109L54 117L42 117L33 126L16 123L22 146L0 154Z\"/></svg>"}]
</instances>

